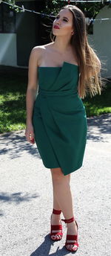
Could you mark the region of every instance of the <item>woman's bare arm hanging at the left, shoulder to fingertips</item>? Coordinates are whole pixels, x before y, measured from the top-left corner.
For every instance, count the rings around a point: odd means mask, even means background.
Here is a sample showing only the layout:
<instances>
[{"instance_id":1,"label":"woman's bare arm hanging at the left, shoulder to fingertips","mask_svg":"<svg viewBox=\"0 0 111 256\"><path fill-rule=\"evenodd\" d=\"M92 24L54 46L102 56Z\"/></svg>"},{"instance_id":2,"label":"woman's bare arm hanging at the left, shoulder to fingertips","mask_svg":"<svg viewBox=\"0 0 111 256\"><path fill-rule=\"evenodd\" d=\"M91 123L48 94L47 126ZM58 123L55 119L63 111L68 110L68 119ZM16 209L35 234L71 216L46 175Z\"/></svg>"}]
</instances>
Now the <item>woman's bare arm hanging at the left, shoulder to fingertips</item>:
<instances>
[{"instance_id":1,"label":"woman's bare arm hanging at the left, shoulder to fingertips","mask_svg":"<svg viewBox=\"0 0 111 256\"><path fill-rule=\"evenodd\" d=\"M38 57L40 51L38 47L33 48L30 54L29 69L28 69L28 85L26 94L26 109L27 109L27 121L25 135L27 141L31 144L34 143L34 132L33 132L33 104L36 100L36 94L38 89Z\"/></svg>"}]
</instances>

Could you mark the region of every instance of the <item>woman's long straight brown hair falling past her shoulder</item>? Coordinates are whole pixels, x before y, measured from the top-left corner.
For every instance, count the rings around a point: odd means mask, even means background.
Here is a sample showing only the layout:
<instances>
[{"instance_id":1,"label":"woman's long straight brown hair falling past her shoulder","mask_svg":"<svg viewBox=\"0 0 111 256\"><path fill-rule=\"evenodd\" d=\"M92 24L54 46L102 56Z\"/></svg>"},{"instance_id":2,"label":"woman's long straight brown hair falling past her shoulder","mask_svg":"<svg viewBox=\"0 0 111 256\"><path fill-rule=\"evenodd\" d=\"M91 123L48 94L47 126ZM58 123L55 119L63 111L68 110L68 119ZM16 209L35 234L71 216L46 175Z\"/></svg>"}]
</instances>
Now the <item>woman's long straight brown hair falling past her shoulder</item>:
<instances>
[{"instance_id":1,"label":"woman's long straight brown hair falling past her shoulder","mask_svg":"<svg viewBox=\"0 0 111 256\"><path fill-rule=\"evenodd\" d=\"M73 28L74 34L70 39L71 45L75 49L78 60L80 77L78 92L81 98L101 95L101 62L98 62L98 57L95 51L90 47L87 41L87 29L84 13L75 5L67 4L61 10L67 9L73 13ZM51 31L52 33L52 31ZM55 36L50 38L54 41Z\"/></svg>"}]
</instances>

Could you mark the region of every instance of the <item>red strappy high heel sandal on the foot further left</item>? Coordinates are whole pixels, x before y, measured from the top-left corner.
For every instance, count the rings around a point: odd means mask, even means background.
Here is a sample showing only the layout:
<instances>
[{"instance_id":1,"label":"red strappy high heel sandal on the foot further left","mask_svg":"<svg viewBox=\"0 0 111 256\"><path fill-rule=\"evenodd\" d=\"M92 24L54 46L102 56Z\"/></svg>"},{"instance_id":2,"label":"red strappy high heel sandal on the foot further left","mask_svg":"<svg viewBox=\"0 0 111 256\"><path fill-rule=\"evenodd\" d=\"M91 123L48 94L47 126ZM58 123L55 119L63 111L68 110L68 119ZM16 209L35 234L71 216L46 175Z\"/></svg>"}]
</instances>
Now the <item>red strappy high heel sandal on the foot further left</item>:
<instances>
[{"instance_id":1,"label":"red strappy high heel sandal on the foot further left","mask_svg":"<svg viewBox=\"0 0 111 256\"><path fill-rule=\"evenodd\" d=\"M55 210L53 209L53 214L61 214L61 210ZM59 230L59 231L58 231ZM53 232L54 231L54 232ZM51 237L53 235L60 235L61 237L55 237L54 239ZM63 236L63 233L62 233L62 225L51 225L51 231L50 231L50 238L51 240L53 241L58 241L58 240L61 240Z\"/></svg>"}]
</instances>

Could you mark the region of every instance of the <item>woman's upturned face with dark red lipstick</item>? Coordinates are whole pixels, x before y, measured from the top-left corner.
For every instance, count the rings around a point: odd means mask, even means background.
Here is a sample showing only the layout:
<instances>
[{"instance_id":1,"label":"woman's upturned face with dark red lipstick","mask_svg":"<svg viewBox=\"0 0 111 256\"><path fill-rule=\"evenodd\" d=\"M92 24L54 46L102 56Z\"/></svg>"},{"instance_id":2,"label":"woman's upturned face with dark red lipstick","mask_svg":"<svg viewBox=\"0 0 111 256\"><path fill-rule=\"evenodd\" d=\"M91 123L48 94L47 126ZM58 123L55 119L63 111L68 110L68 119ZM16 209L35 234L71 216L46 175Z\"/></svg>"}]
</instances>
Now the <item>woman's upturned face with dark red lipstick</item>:
<instances>
[{"instance_id":1,"label":"woman's upturned face with dark red lipstick","mask_svg":"<svg viewBox=\"0 0 111 256\"><path fill-rule=\"evenodd\" d=\"M57 26L57 27L56 27ZM60 10L53 22L54 36L72 36L73 32L73 14L70 10Z\"/></svg>"}]
</instances>

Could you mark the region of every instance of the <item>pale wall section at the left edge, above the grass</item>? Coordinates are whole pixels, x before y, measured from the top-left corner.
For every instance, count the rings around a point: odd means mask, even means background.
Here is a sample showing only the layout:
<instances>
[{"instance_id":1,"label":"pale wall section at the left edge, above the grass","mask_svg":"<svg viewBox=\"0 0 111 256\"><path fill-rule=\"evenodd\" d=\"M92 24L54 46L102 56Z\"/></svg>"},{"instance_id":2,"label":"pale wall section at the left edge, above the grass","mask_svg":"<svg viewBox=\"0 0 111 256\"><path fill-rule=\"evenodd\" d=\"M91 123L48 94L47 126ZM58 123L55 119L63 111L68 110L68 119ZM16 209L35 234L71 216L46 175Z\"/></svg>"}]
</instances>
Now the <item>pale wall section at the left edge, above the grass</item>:
<instances>
[{"instance_id":1,"label":"pale wall section at the left edge, above the grass","mask_svg":"<svg viewBox=\"0 0 111 256\"><path fill-rule=\"evenodd\" d=\"M17 66L16 33L0 33L0 65Z\"/></svg>"}]
</instances>

